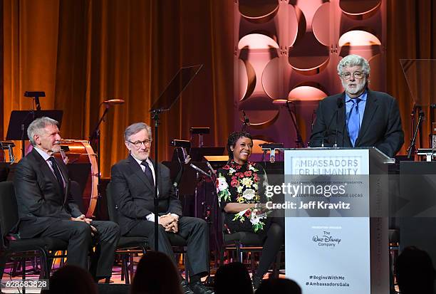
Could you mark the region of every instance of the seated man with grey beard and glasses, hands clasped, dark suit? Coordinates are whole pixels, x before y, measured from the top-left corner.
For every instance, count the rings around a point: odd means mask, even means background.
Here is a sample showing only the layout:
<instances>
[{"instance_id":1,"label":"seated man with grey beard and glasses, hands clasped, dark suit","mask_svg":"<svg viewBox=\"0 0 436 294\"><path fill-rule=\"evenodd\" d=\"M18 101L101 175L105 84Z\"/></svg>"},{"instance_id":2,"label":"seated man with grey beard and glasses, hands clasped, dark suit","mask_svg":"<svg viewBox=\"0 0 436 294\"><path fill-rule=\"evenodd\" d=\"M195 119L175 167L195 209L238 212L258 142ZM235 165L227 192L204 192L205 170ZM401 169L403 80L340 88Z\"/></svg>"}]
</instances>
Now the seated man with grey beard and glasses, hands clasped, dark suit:
<instances>
[{"instance_id":1,"label":"seated man with grey beard and glasses, hands clasped, dark suit","mask_svg":"<svg viewBox=\"0 0 436 294\"><path fill-rule=\"evenodd\" d=\"M112 167L111 189L117 206L118 224L123 236L146 236L155 246L155 164L151 160L151 128L143 122L130 125L124 132L126 159ZM185 293L212 294L200 278L209 272L209 232L203 219L182 216L182 204L174 193L170 170L157 164L158 171L158 251L166 253L176 264L168 235L177 233L187 240L187 265L190 284L182 279ZM162 273L165 275L165 273Z\"/></svg>"}]
</instances>

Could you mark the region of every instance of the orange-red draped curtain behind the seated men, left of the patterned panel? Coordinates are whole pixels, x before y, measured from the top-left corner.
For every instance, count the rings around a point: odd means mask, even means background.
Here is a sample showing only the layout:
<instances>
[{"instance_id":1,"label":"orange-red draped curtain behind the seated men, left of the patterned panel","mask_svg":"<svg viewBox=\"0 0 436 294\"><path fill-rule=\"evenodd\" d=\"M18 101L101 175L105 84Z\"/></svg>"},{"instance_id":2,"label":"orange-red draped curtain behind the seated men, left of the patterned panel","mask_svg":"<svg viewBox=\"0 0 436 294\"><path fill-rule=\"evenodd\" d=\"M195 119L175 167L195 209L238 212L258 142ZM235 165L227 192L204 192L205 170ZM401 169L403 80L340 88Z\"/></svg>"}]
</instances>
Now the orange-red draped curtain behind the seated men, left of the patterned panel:
<instances>
[{"instance_id":1,"label":"orange-red draped curtain behind the seated men, left of the patterned panel","mask_svg":"<svg viewBox=\"0 0 436 294\"><path fill-rule=\"evenodd\" d=\"M87 139L105 99L123 98L100 127L102 173L127 152L123 131L152 125L150 105L184 65L204 67L170 112L161 115L159 160L171 139L210 126L205 145L232 130L232 1L7 0L2 2L6 136L12 110L29 110L26 90L43 90L43 110L63 110L61 135ZM17 155L20 153L16 148Z\"/></svg>"}]
</instances>

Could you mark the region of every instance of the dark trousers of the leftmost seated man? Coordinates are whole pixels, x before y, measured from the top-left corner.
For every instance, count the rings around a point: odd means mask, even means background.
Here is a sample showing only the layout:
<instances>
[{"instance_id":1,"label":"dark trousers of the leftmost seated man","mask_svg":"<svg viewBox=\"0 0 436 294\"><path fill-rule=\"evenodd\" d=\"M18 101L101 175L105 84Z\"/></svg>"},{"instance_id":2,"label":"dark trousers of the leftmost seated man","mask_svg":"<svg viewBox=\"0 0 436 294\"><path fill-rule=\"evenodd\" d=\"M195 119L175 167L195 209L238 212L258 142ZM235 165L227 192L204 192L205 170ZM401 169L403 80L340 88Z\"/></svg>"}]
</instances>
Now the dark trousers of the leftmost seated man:
<instances>
[{"instance_id":1,"label":"dark trousers of the leftmost seated man","mask_svg":"<svg viewBox=\"0 0 436 294\"><path fill-rule=\"evenodd\" d=\"M67 263L80 266L88 270L88 253L95 246L95 253L91 255L90 272L96 278L109 278L115 249L120 238L120 228L112 221L93 221L97 229L94 237L91 229L84 221L70 221L60 219L43 231L40 237L58 238L68 242Z\"/></svg>"}]
</instances>

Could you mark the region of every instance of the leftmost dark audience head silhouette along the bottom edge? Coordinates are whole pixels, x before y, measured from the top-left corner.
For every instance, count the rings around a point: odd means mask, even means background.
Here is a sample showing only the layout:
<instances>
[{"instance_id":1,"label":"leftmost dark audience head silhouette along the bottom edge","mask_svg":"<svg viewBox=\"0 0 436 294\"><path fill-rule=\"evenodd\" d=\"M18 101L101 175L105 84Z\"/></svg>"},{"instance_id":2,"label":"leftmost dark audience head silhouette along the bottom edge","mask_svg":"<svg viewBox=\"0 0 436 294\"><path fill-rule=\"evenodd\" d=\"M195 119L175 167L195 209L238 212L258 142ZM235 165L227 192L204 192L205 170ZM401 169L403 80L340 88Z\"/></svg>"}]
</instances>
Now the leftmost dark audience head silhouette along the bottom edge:
<instances>
[{"instance_id":1,"label":"leftmost dark audience head silhouette along the bottom edge","mask_svg":"<svg viewBox=\"0 0 436 294\"><path fill-rule=\"evenodd\" d=\"M72 278L74 277L74 278ZM50 289L41 293L97 294L97 285L88 271L78 266L63 266L53 273L49 281Z\"/></svg>"}]
</instances>

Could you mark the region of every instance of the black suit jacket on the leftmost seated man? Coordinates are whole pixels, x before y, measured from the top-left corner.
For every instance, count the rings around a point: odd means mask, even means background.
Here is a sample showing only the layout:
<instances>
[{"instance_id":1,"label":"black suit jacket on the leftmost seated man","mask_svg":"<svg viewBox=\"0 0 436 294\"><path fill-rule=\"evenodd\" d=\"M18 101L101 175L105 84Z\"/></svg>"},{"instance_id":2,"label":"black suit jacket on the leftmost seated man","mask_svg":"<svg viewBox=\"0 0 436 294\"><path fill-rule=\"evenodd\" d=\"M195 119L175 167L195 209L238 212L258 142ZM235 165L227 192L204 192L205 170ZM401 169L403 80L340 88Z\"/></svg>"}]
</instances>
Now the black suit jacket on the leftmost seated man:
<instances>
[{"instance_id":1,"label":"black suit jacket on the leftmost seated man","mask_svg":"<svg viewBox=\"0 0 436 294\"><path fill-rule=\"evenodd\" d=\"M16 166L14 188L19 206L21 238L38 235L58 219L82 214L71 195L67 167L57 158L56 162L66 181L65 196L47 162L35 148Z\"/></svg>"}]
</instances>

